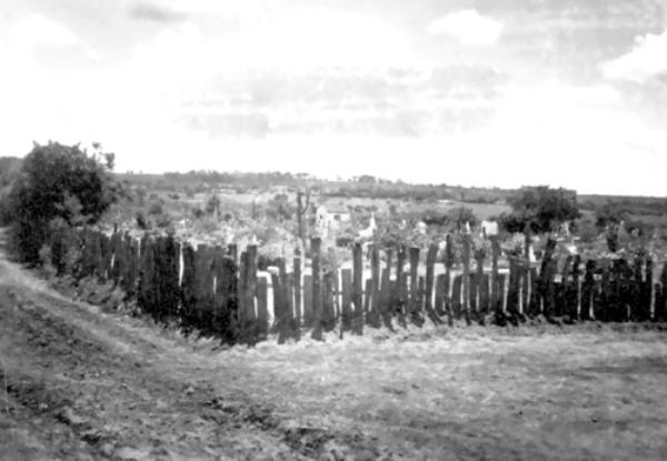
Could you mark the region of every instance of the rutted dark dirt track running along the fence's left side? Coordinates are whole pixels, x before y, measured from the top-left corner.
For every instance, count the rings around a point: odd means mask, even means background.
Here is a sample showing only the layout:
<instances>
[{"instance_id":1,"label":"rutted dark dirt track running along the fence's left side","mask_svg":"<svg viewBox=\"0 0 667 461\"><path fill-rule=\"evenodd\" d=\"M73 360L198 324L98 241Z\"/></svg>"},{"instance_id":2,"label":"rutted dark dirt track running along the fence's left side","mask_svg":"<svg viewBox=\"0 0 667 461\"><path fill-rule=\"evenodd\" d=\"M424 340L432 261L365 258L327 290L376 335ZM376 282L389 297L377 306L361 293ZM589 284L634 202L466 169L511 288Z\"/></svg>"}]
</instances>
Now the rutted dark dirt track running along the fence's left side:
<instances>
[{"instance_id":1,"label":"rutted dark dirt track running along the fence's left side","mask_svg":"<svg viewBox=\"0 0 667 461\"><path fill-rule=\"evenodd\" d=\"M235 384L245 370L211 363L210 343L198 353L156 329L0 254L0 460L299 459L334 438L252 402Z\"/></svg>"}]
</instances>

